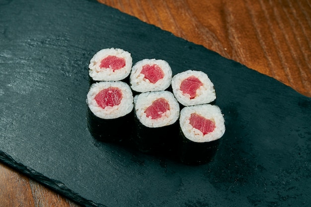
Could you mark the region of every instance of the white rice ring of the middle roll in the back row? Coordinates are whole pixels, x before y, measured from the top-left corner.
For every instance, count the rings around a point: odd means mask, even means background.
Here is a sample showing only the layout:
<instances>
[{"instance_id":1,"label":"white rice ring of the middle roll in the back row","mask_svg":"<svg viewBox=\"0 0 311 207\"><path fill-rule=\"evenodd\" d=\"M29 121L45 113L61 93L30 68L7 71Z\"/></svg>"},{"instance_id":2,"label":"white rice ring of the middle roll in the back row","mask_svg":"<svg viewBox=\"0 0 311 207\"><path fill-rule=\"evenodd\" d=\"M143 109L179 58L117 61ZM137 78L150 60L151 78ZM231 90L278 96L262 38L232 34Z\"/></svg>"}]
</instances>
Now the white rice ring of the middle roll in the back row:
<instances>
[{"instance_id":1,"label":"white rice ring of the middle roll in the back row","mask_svg":"<svg viewBox=\"0 0 311 207\"><path fill-rule=\"evenodd\" d=\"M145 78L144 74L141 74L143 66L145 65L157 65L159 68L162 69L164 77L159 79L156 83L150 82L147 78ZM133 90L141 93L148 91L160 91L168 88L171 83L171 79L172 69L166 61L156 59L144 59L137 62L133 66L130 75L130 84Z\"/></svg>"}]
</instances>

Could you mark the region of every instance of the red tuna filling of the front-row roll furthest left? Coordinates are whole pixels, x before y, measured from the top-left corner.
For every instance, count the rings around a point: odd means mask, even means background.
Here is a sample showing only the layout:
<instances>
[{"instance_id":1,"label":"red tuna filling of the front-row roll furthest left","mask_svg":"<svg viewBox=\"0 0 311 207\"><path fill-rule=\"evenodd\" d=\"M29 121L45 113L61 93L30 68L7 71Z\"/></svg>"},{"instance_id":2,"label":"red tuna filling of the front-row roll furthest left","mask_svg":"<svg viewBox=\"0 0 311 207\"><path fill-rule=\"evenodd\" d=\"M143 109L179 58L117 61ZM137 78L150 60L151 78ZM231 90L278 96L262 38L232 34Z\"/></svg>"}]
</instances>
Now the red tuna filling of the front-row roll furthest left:
<instances>
[{"instance_id":1,"label":"red tuna filling of the front-row roll furthest left","mask_svg":"<svg viewBox=\"0 0 311 207\"><path fill-rule=\"evenodd\" d=\"M109 87L101 90L95 96L95 101L101 108L106 108L107 106L116 106L121 103L122 91L116 87Z\"/></svg>"}]
</instances>

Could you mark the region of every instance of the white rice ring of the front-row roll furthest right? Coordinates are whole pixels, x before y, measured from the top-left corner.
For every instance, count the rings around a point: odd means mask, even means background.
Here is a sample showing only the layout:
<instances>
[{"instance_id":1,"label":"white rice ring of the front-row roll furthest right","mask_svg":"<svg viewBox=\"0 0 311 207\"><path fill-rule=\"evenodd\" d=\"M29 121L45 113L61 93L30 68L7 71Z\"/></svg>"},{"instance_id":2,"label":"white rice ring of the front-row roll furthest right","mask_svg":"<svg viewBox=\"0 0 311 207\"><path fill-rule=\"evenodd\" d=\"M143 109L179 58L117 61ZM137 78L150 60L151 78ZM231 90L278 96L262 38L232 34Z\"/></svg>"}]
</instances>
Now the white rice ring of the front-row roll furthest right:
<instances>
[{"instance_id":1,"label":"white rice ring of the front-row roll furthest right","mask_svg":"<svg viewBox=\"0 0 311 207\"><path fill-rule=\"evenodd\" d=\"M214 121L216 126L214 131L203 135L200 130L192 127L192 125L189 124L189 119L193 113ZM195 142L208 142L219 139L224 135L226 130L225 119L220 108L210 104L184 107L180 111L179 124L184 136Z\"/></svg>"}]
</instances>

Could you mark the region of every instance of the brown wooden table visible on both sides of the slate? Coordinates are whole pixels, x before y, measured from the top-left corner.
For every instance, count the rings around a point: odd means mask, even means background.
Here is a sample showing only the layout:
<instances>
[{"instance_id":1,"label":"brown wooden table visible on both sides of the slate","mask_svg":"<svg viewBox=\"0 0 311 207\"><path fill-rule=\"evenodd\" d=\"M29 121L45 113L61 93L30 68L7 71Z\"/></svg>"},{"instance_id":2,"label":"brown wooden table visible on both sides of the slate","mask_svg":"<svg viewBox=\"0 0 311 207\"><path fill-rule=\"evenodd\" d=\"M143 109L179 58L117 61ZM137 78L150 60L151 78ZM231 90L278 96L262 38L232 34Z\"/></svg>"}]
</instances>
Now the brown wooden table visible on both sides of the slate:
<instances>
[{"instance_id":1,"label":"brown wooden table visible on both sides of the slate","mask_svg":"<svg viewBox=\"0 0 311 207\"><path fill-rule=\"evenodd\" d=\"M311 97L310 0L99 0ZM78 207L0 163L0 207Z\"/></svg>"}]
</instances>

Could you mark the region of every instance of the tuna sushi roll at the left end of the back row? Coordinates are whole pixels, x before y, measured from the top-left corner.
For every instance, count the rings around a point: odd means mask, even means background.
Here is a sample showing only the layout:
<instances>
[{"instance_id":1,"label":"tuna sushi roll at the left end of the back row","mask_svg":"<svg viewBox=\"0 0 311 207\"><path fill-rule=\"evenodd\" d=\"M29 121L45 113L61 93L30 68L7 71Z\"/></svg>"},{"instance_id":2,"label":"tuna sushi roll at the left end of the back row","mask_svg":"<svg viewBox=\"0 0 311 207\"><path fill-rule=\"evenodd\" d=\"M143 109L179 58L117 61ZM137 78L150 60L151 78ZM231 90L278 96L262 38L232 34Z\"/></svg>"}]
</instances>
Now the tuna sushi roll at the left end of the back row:
<instances>
[{"instance_id":1,"label":"tuna sushi roll at the left end of the back row","mask_svg":"<svg viewBox=\"0 0 311 207\"><path fill-rule=\"evenodd\" d=\"M88 68L93 81L123 80L131 73L132 57L122 49L102 49L92 57Z\"/></svg>"}]
</instances>

